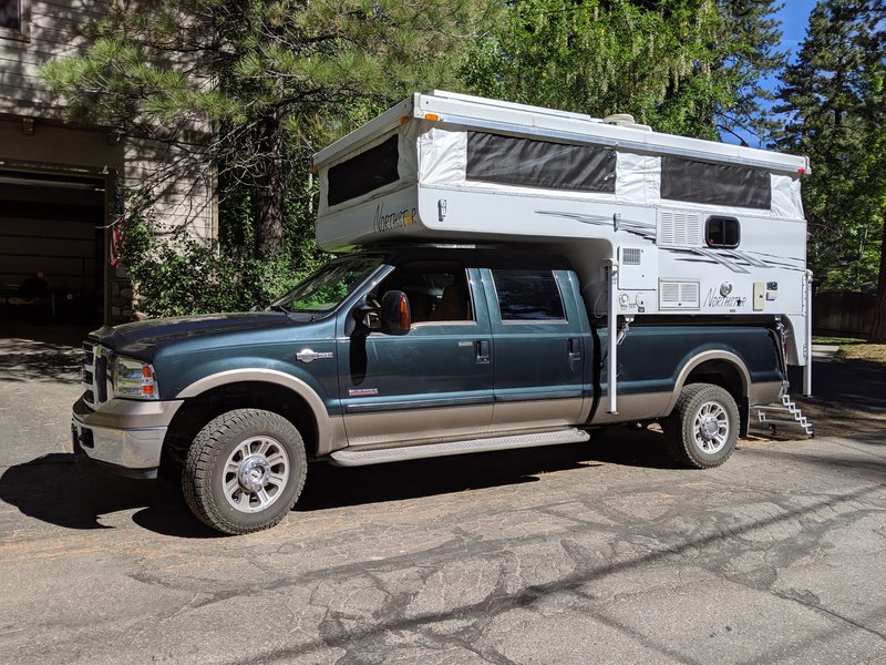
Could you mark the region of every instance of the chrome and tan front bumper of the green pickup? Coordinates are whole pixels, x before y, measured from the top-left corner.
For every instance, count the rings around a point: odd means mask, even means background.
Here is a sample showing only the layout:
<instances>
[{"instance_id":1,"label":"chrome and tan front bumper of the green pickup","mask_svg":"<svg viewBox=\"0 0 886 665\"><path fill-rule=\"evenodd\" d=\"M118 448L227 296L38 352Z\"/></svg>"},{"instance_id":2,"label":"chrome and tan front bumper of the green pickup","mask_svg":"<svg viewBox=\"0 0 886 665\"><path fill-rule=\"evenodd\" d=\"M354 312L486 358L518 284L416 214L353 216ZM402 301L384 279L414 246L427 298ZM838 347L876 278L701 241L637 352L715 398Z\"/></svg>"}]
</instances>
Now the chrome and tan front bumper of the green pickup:
<instances>
[{"instance_id":1,"label":"chrome and tan front bumper of the green pickup","mask_svg":"<svg viewBox=\"0 0 886 665\"><path fill-rule=\"evenodd\" d=\"M182 403L111 399L92 410L81 398L71 417L74 452L82 451L125 475L153 478L166 430Z\"/></svg>"}]
</instances>

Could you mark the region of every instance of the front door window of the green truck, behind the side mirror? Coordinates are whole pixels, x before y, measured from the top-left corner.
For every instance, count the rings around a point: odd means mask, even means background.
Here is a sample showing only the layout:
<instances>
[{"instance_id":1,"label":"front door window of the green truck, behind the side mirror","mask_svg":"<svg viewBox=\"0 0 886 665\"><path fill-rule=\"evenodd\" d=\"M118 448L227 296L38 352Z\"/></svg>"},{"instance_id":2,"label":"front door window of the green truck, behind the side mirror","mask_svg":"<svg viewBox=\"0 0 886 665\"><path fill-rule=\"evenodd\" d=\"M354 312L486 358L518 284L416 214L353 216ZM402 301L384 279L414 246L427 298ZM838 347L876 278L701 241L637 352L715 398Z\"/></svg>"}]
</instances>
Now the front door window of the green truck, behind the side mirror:
<instances>
[{"instance_id":1,"label":"front door window of the green truck, behind the side mirror","mask_svg":"<svg viewBox=\"0 0 886 665\"><path fill-rule=\"evenodd\" d=\"M475 320L467 274L457 262L403 264L379 285L375 299L392 289L406 294L413 324Z\"/></svg>"}]
</instances>

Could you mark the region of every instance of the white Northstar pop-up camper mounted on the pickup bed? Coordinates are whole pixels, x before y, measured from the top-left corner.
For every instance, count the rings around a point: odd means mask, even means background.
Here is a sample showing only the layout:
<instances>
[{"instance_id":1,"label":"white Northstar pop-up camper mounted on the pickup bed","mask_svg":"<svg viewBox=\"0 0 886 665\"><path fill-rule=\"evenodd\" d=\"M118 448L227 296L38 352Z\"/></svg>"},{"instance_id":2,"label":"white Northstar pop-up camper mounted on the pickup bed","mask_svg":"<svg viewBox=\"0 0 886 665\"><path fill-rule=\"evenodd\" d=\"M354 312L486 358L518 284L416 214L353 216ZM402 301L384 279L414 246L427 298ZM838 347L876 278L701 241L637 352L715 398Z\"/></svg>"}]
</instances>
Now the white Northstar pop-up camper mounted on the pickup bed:
<instances>
[{"instance_id":1,"label":"white Northstar pop-up camper mounted on the pickup bed","mask_svg":"<svg viewBox=\"0 0 886 665\"><path fill-rule=\"evenodd\" d=\"M569 258L589 315L615 315L614 328L776 317L787 362L808 362L807 157L432 91L317 153L315 167L324 249L549 250Z\"/></svg>"}]
</instances>

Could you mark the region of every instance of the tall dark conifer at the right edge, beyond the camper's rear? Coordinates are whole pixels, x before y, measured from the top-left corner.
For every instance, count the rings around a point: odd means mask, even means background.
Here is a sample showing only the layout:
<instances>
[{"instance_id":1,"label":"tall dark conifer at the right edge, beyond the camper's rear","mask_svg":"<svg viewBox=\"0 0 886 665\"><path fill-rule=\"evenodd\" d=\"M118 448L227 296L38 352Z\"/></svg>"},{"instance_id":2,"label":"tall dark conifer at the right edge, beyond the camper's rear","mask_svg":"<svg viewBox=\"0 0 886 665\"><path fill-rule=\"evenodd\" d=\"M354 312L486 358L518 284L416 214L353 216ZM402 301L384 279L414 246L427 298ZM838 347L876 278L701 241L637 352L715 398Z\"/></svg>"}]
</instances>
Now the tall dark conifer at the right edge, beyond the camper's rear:
<instances>
[{"instance_id":1,"label":"tall dark conifer at the right edge, beyond the camper's rear","mask_svg":"<svg viewBox=\"0 0 886 665\"><path fill-rule=\"evenodd\" d=\"M776 145L807 154L803 182L810 266L823 288L873 290L886 214L883 81L874 3L820 2L796 63L782 76L776 111L789 122Z\"/></svg>"}]
</instances>

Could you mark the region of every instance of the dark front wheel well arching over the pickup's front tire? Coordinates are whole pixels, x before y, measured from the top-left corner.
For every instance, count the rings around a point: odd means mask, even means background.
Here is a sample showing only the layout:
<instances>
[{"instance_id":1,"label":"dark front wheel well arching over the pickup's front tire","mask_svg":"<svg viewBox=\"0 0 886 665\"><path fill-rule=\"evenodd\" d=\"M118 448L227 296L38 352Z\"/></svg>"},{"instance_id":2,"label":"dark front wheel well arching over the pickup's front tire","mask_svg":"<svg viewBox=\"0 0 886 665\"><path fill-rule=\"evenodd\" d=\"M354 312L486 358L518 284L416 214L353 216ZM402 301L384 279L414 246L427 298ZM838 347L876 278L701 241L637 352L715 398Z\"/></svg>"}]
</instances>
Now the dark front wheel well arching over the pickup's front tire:
<instances>
[{"instance_id":1,"label":"dark front wheel well arching over the pickup's front tire","mask_svg":"<svg viewBox=\"0 0 886 665\"><path fill-rule=\"evenodd\" d=\"M317 419L308 403L282 386L261 381L228 383L185 400L169 423L164 452L183 461L197 432L213 418L234 409L262 409L282 416L298 429L308 457L317 453Z\"/></svg>"}]
</instances>

